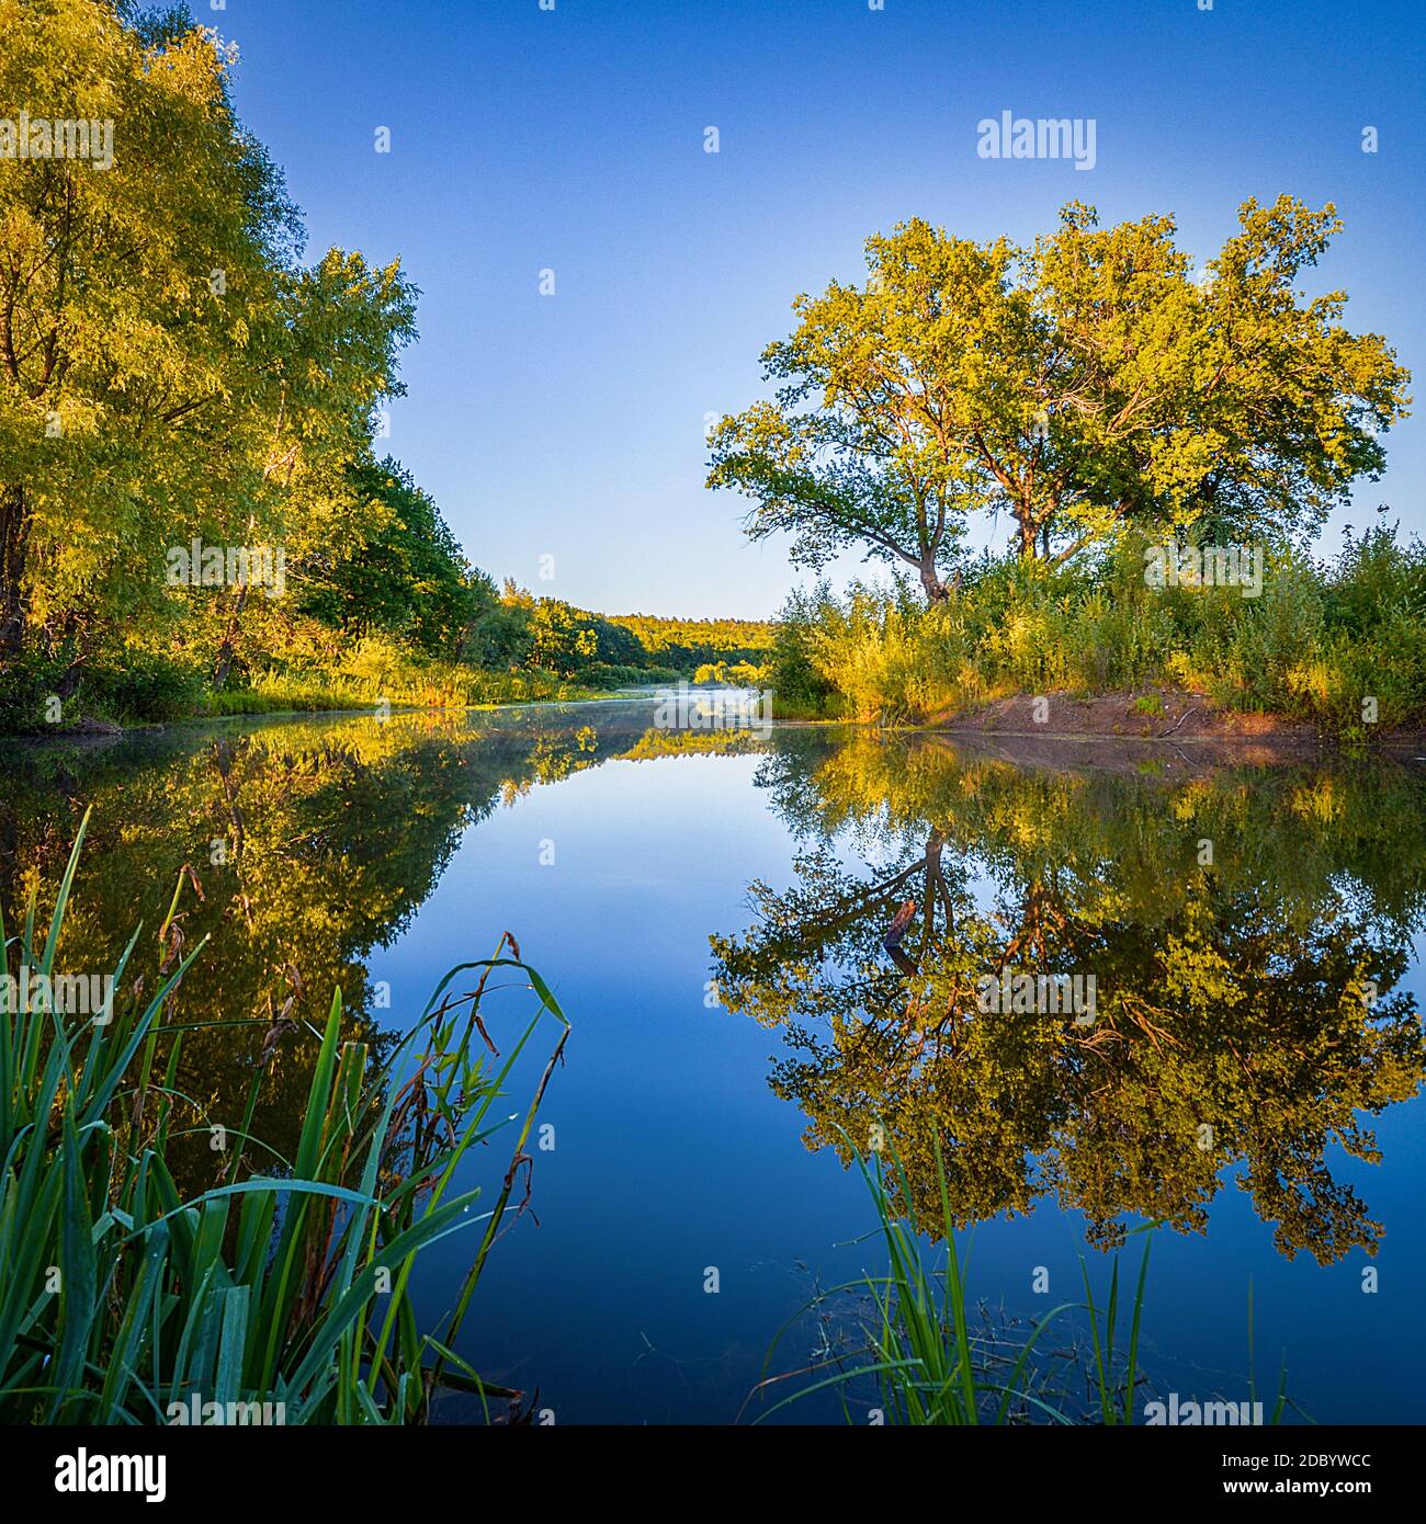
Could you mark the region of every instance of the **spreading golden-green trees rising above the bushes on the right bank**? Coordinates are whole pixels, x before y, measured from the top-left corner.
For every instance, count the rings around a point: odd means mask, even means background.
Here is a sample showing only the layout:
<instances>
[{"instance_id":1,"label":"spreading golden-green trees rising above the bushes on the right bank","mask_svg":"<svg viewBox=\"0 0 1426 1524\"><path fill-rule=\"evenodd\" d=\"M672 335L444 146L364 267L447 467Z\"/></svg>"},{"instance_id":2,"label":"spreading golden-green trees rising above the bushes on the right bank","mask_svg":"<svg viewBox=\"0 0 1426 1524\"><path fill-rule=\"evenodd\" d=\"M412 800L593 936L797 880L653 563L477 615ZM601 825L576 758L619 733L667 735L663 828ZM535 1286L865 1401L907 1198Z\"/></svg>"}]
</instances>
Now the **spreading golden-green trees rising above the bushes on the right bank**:
<instances>
[{"instance_id":1,"label":"spreading golden-green trees rising above the bushes on the right bank","mask_svg":"<svg viewBox=\"0 0 1426 1524\"><path fill-rule=\"evenodd\" d=\"M1196 279L1167 216L1100 229L1071 204L1033 248L900 224L868 239L865 285L795 300L763 357L775 399L718 424L709 485L793 559L909 564L930 602L973 512L1007 512L1026 558L1133 521L1312 530L1406 401L1345 296L1298 290L1339 227L1248 201Z\"/></svg>"}]
</instances>

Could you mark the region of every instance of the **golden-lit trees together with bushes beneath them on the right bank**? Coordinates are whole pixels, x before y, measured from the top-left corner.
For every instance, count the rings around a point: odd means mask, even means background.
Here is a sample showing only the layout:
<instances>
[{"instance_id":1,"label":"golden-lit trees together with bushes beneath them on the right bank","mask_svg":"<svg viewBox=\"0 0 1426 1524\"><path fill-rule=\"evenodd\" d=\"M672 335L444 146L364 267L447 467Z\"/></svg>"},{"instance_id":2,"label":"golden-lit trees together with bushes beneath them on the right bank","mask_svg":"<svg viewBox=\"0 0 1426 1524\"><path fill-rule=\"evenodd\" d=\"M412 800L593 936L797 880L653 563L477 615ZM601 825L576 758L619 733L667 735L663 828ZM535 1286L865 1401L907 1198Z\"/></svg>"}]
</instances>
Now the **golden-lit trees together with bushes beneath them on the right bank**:
<instances>
[{"instance_id":1,"label":"golden-lit trees together with bushes beneath them on the right bank","mask_svg":"<svg viewBox=\"0 0 1426 1524\"><path fill-rule=\"evenodd\" d=\"M1426 547L1376 524L1312 550L1411 402L1347 294L1309 291L1341 230L1249 200L1199 268L1171 216L1075 201L1029 247L911 219L862 285L798 296L708 486L801 567L889 576L788 597L775 715L973 725L1025 696L1049 725L1051 695L1124 695L1151 721L1193 695L1226 728L1420 733Z\"/></svg>"}]
</instances>

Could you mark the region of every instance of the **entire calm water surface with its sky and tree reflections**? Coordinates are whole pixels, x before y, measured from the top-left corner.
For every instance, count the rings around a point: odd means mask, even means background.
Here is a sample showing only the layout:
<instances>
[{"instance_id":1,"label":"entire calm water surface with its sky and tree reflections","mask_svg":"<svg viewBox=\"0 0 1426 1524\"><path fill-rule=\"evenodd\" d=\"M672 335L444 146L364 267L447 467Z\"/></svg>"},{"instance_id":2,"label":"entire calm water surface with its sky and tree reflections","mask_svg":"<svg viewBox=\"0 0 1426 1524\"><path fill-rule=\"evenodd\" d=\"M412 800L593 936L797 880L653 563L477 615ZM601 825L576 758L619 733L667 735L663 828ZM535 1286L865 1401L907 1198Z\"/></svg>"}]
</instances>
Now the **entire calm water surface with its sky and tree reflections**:
<instances>
[{"instance_id":1,"label":"entire calm water surface with its sky and tree reflections","mask_svg":"<svg viewBox=\"0 0 1426 1524\"><path fill-rule=\"evenodd\" d=\"M1243 1401L1252 1358L1260 1388L1286 1362L1319 1420L1426 1420L1420 765L668 733L638 701L174 728L0 765L8 924L31 884L52 898L93 806L66 966L156 930L194 866L181 925L212 940L183 1015L253 1023L186 1047L178 1088L210 1119L241 1114L288 997L319 1024L340 985L354 1029L397 1032L451 965L519 939L573 1032L462 1353L560 1423L731 1422L788 1318L772 1370L846 1340L854 1298L796 1314L880 1268L846 1148L875 1125L927 1225L943 1140L993 1317L1072 1300L1081 1257L1104 1288L1156 1216L1158 1394ZM1002 966L1094 974L1094 1026L981 1013ZM502 1049L532 1013L514 983L485 1006ZM511 1114L555 1039L537 1032ZM255 1131L281 1154L316 1047L284 1038L267 1076ZM195 1189L204 1137L178 1160ZM497 1189L511 1146L473 1180ZM468 1259L456 1234L421 1262L432 1320Z\"/></svg>"}]
</instances>

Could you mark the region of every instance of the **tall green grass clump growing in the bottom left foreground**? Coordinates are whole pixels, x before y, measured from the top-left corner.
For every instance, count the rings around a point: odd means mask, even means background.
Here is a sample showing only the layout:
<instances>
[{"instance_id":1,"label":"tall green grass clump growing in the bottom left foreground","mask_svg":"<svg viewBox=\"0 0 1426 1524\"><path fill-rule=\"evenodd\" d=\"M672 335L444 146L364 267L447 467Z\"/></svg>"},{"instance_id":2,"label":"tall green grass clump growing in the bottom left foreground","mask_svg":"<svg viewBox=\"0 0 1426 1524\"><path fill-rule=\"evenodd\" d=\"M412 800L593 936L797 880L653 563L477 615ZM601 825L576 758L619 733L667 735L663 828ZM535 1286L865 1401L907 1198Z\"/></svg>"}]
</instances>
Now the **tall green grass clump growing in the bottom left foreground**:
<instances>
[{"instance_id":1,"label":"tall green grass clump growing in the bottom left foreground","mask_svg":"<svg viewBox=\"0 0 1426 1524\"><path fill-rule=\"evenodd\" d=\"M82 840L84 826L43 939L34 890L23 927L0 925L6 954L32 975L56 969ZM168 933L165 925L160 943L172 949ZM494 957L447 974L381 1062L368 1044L342 1039L334 995L296 1158L250 1172L256 1145L242 1126L229 1128L235 1148L223 1184L188 1199L165 1154L186 1108L175 1088L183 1035L206 1023L165 1018L203 943L181 960L169 951L145 1000L136 931L114 969L125 995L116 995L107 1026L44 1009L8 1012L0 1021L0 1420L162 1423L171 1405L197 1396L282 1404L287 1423L413 1423L429 1417L442 1390L476 1393L487 1413L490 1398L512 1396L482 1382L454 1344L567 1021L514 943L502 956L506 940ZM480 1004L494 968L520 971L538 1007L487 1070L476 1033L493 1052ZM476 988L456 997L451 981L465 971L479 971ZM482 1193L458 1186L458 1172L503 1125L491 1108L546 1015L558 1042L509 1172L477 1212ZM413 1266L454 1233L470 1236L470 1268L451 1311L422 1332Z\"/></svg>"}]
</instances>

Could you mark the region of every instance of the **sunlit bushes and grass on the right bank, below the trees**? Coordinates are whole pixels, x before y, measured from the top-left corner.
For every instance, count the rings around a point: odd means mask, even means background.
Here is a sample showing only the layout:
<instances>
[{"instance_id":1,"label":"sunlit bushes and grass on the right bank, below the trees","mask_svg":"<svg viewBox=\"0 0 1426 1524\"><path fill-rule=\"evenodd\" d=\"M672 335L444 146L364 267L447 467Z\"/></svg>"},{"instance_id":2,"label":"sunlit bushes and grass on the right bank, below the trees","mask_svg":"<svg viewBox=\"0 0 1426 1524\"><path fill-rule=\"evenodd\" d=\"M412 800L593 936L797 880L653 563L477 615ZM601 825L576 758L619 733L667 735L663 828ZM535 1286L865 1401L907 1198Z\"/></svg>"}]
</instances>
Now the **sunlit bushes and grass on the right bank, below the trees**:
<instances>
[{"instance_id":1,"label":"sunlit bushes and grass on the right bank, below the trees","mask_svg":"<svg viewBox=\"0 0 1426 1524\"><path fill-rule=\"evenodd\" d=\"M1426 549L1386 530L1336 559L1264 552L1261 587L1156 587L1148 541L1052 567L985 558L944 602L906 584L788 600L776 713L929 724L1013 693L1151 686L1365 738L1426 722ZM1246 594L1246 596L1245 596Z\"/></svg>"}]
</instances>

